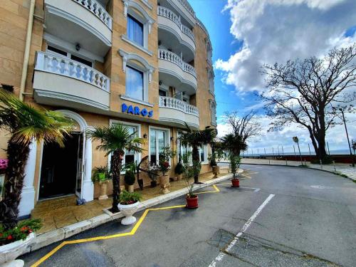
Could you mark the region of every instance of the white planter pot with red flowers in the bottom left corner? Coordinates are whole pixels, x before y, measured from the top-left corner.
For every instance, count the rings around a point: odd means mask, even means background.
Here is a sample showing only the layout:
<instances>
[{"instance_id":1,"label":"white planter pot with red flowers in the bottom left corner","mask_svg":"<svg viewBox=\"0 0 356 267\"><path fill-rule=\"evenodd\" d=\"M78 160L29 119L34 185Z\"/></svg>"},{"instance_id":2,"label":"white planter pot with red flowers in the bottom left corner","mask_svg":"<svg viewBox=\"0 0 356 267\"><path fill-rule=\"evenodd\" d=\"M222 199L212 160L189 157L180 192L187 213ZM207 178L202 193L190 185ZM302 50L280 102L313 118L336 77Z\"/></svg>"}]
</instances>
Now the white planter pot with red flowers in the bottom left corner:
<instances>
[{"instance_id":1,"label":"white planter pot with red flowers in the bottom left corner","mask_svg":"<svg viewBox=\"0 0 356 267\"><path fill-rule=\"evenodd\" d=\"M1 267L20 267L24 265L22 260L15 259L26 251L26 248L36 242L36 234L31 233L25 240L0 246L0 266Z\"/></svg>"}]
</instances>

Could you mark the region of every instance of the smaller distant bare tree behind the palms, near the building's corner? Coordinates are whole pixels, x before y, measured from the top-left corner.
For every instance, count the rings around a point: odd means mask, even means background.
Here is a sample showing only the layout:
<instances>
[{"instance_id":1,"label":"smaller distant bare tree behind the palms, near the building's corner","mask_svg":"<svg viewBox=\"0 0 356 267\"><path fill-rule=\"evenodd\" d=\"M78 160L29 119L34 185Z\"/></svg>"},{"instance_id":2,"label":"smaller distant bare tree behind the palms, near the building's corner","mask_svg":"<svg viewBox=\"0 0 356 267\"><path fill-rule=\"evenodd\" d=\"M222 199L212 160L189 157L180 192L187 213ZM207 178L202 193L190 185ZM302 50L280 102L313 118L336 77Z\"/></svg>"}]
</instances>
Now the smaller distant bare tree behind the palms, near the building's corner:
<instances>
[{"instance_id":1,"label":"smaller distant bare tree behind the palms, near the building's corner","mask_svg":"<svg viewBox=\"0 0 356 267\"><path fill-rule=\"evenodd\" d=\"M225 121L234 135L241 137L242 142L246 143L247 140L261 134L261 122L258 121L255 110L251 110L242 117L239 116L238 111L225 112Z\"/></svg>"}]
</instances>

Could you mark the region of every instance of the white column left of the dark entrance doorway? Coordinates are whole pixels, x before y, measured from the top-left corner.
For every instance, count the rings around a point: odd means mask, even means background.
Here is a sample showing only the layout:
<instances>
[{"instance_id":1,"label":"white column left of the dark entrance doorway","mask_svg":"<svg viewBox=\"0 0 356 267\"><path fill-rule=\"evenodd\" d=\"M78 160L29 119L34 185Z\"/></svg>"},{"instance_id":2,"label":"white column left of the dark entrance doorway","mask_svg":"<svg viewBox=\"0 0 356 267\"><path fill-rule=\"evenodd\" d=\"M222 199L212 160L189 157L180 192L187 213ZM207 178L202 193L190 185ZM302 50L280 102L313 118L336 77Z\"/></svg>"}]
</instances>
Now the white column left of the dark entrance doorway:
<instances>
[{"instance_id":1,"label":"white column left of the dark entrance doorway","mask_svg":"<svg viewBox=\"0 0 356 267\"><path fill-rule=\"evenodd\" d=\"M35 207L35 188L33 187L33 180L35 178L36 153L37 142L32 142L25 167L25 177L23 179L21 201L19 204L20 217L30 216L32 209Z\"/></svg>"}]
</instances>

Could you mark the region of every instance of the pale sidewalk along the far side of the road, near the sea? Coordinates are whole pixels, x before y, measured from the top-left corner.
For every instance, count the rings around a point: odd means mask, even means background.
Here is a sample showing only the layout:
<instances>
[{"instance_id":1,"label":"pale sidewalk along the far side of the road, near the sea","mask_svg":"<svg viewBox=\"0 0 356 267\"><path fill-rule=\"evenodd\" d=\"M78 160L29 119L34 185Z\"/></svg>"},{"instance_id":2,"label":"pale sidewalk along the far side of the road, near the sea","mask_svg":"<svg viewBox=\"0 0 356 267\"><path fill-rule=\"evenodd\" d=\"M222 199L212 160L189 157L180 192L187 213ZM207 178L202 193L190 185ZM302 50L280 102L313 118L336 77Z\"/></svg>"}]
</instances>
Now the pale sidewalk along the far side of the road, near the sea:
<instances>
[{"instance_id":1,"label":"pale sidewalk along the far side of the road, near the sea","mask_svg":"<svg viewBox=\"0 0 356 267\"><path fill-rule=\"evenodd\" d=\"M335 163L335 169L333 164L326 164L320 166L320 164L311 164L310 162L306 163L310 169L320 169L325 172L333 172L337 174L346 175L348 178L356 181L356 167L350 167L350 164L344 163ZM241 159L241 164L266 164L266 165L284 165L284 166L300 166L300 162L295 161L286 161L278 159Z\"/></svg>"}]
</instances>

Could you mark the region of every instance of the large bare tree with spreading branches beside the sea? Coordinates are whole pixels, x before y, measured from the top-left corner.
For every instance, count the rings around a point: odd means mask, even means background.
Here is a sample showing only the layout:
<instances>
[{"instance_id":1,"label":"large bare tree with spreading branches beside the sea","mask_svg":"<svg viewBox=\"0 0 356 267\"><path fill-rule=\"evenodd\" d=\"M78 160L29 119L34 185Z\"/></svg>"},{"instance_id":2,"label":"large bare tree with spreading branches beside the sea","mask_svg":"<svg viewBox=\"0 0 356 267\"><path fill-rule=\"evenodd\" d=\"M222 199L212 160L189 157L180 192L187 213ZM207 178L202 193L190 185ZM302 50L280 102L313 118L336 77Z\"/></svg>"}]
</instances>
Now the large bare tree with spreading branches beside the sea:
<instances>
[{"instance_id":1,"label":"large bare tree with spreading branches beside the sea","mask_svg":"<svg viewBox=\"0 0 356 267\"><path fill-rule=\"evenodd\" d=\"M356 45L333 48L323 58L287 61L263 66L266 87L261 95L267 115L273 117L270 130L281 130L291 122L308 129L316 155L325 161L326 131L340 123L340 108L353 112L356 99Z\"/></svg>"}]
</instances>

